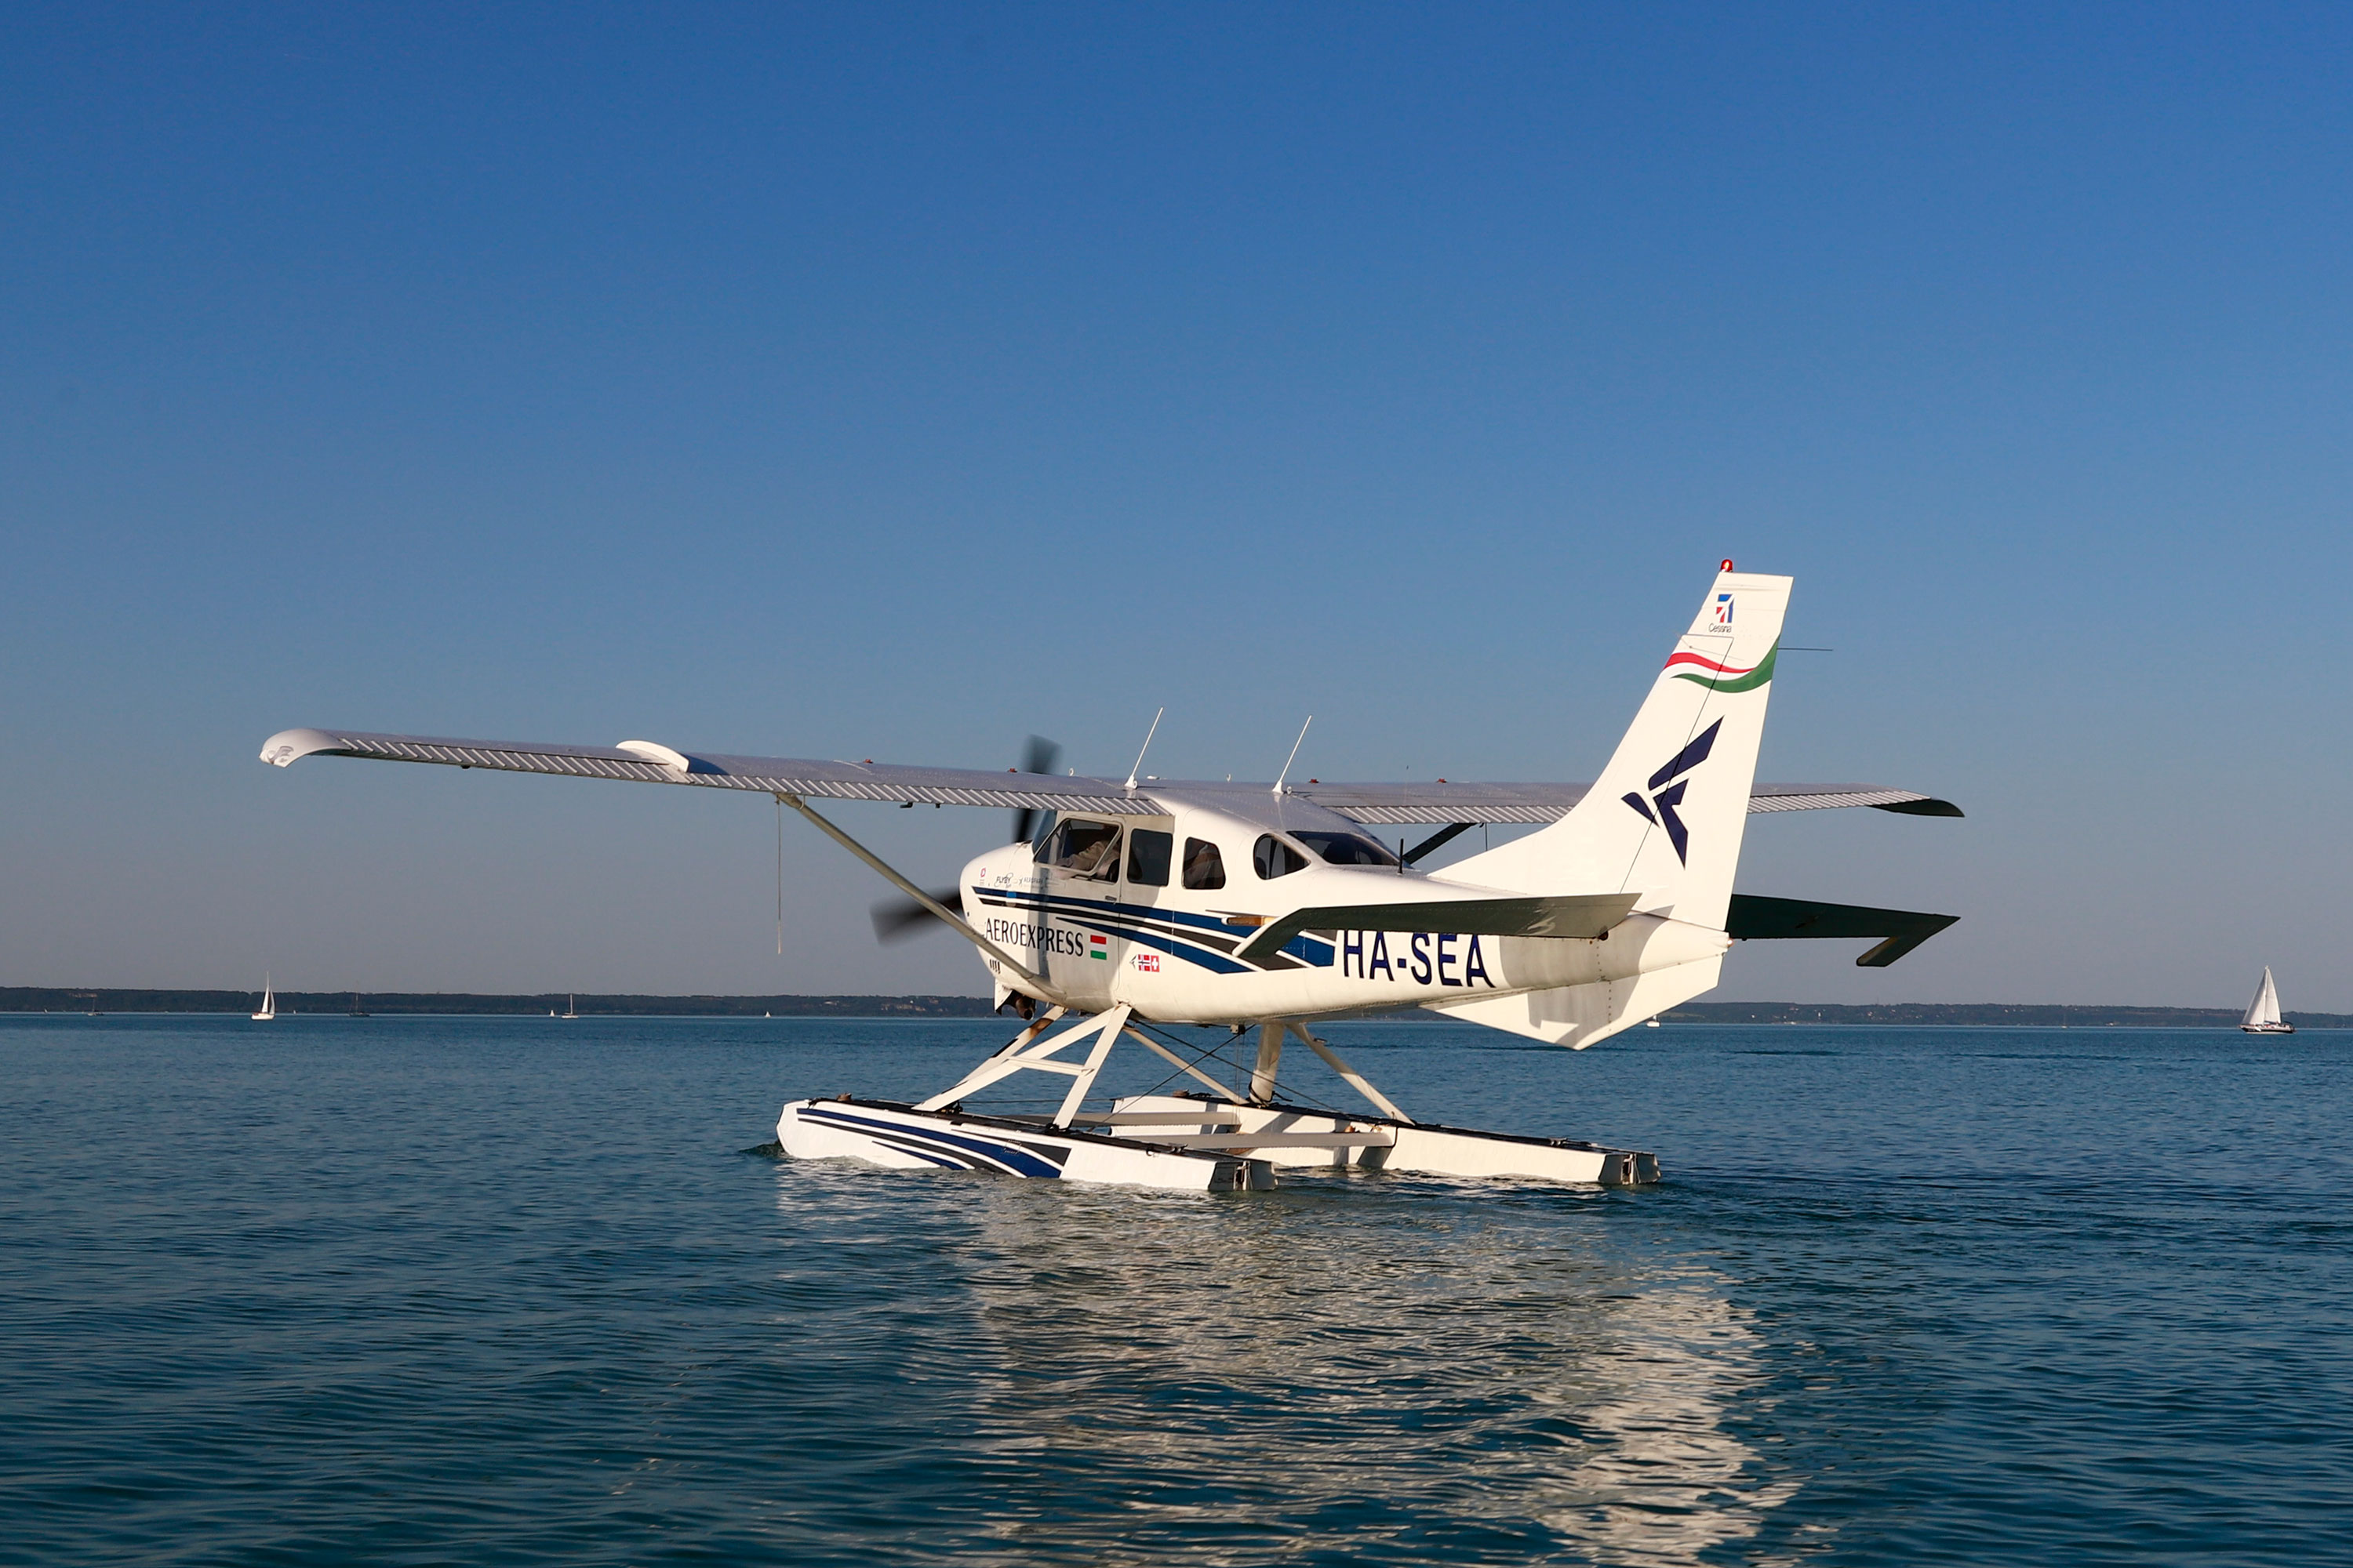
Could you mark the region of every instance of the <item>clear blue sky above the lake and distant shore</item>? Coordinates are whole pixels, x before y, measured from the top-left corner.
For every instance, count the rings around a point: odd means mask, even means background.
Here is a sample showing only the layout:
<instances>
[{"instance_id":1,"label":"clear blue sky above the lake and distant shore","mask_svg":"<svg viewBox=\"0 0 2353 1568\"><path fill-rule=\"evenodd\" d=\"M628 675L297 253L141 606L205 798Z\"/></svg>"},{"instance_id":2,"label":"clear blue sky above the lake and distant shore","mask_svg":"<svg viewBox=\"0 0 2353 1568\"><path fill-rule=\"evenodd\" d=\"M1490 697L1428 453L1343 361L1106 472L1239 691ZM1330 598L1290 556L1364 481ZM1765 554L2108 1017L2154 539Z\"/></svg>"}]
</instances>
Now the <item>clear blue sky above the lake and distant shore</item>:
<instances>
[{"instance_id":1,"label":"clear blue sky above the lake and distant shore","mask_svg":"<svg viewBox=\"0 0 2353 1568\"><path fill-rule=\"evenodd\" d=\"M289 724L1588 778L1798 578L1720 997L2353 1011L2346 7L0 14L0 983L976 990ZM1000 813L845 811L925 879Z\"/></svg>"}]
</instances>

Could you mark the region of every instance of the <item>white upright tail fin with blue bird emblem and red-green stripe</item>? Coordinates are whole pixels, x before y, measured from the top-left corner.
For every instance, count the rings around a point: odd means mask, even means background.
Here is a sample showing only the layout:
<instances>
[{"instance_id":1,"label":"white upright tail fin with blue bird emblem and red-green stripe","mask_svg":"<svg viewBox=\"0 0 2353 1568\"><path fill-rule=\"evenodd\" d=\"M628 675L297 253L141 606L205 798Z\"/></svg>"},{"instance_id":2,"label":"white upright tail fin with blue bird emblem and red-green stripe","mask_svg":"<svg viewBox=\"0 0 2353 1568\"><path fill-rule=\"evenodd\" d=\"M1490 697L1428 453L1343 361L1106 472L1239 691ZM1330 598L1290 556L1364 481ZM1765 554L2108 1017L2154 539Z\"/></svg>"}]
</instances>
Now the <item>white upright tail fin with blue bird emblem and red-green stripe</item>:
<instances>
[{"instance_id":1,"label":"white upright tail fin with blue bird emblem and red-green stripe","mask_svg":"<svg viewBox=\"0 0 2353 1568\"><path fill-rule=\"evenodd\" d=\"M1593 792L1449 882L1525 893L1638 893L1638 910L1722 931L1748 825L1786 576L1727 569L1675 642Z\"/></svg>"}]
</instances>

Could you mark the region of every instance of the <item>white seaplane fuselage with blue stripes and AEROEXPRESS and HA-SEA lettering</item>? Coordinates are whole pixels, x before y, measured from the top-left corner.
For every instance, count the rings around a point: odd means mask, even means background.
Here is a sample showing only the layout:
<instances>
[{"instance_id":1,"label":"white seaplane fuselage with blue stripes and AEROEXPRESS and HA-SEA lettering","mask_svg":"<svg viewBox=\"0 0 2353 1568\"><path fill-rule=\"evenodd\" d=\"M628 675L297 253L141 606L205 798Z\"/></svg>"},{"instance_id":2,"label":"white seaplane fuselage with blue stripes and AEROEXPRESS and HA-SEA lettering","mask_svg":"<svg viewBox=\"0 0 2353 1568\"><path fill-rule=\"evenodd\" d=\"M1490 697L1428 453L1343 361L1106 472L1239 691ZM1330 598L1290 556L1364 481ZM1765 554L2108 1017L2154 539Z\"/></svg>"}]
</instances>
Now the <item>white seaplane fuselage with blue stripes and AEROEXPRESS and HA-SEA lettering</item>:
<instances>
[{"instance_id":1,"label":"white seaplane fuselage with blue stripes and AEROEXPRESS and HA-SEA lettering","mask_svg":"<svg viewBox=\"0 0 2353 1568\"><path fill-rule=\"evenodd\" d=\"M1722 931L1635 912L1598 940L1334 929L1242 959L1259 926L1299 907L1501 891L1400 870L1393 849L1386 863L1367 865L1365 827L1297 797L1179 797L1148 785L1139 795L1162 813L1068 813L1035 849L1007 844L979 856L960 884L965 922L1080 1011L1127 1004L1162 1023L1379 1013L1628 980L1720 957L1729 945ZM1075 856L1064 853L1071 844L1080 846ZM1327 856L1358 863L1334 865ZM1000 999L1052 999L1000 961L984 961Z\"/></svg>"}]
</instances>

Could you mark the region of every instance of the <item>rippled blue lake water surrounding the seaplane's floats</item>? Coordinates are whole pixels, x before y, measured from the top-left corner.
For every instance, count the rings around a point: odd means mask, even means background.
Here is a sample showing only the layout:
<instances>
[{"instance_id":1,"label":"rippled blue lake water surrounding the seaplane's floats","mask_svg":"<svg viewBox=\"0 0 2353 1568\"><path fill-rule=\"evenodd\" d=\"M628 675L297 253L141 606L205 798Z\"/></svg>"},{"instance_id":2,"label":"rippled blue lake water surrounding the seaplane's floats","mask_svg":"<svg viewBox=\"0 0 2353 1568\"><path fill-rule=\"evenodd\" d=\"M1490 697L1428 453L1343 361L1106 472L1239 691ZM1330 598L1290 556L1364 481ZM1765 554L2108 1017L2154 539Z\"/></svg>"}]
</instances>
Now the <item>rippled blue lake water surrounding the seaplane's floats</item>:
<instances>
[{"instance_id":1,"label":"rippled blue lake water surrounding the seaplane's floats","mask_svg":"<svg viewBox=\"0 0 2353 1568\"><path fill-rule=\"evenodd\" d=\"M1654 1190L746 1152L1005 1034L0 1018L0 1561L2353 1561L2353 1034L1329 1030Z\"/></svg>"}]
</instances>

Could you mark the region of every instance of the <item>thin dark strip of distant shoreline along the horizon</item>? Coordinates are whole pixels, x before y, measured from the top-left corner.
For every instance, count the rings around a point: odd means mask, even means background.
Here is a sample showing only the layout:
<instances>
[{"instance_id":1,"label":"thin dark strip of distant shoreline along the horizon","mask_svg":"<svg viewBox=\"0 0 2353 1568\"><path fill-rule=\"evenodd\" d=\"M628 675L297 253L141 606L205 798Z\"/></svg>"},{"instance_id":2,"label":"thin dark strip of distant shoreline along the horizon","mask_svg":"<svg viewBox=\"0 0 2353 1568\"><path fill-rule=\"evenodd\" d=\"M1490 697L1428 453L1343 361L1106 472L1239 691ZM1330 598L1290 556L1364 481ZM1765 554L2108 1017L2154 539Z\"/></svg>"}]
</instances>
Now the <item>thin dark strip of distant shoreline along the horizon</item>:
<instances>
[{"instance_id":1,"label":"thin dark strip of distant shoreline along the horizon","mask_svg":"<svg viewBox=\"0 0 2353 1568\"><path fill-rule=\"evenodd\" d=\"M261 992L115 990L0 985L0 1013L252 1013ZM282 1013L348 1016L353 992L278 992ZM431 1013L445 1018L546 1018L576 1009L584 1018L988 1018L986 997L652 997L652 994L478 994L478 992L358 992L362 1013ZM1433 1013L1400 1018L1435 1020ZM1878 1027L2009 1027L2009 1030L2226 1030L2240 1020L2226 1006L2045 1006L2026 1001L1687 1001L1661 1023L1817 1023ZM2353 1013L2289 1013L2299 1030L2353 1030Z\"/></svg>"}]
</instances>

